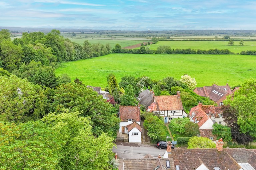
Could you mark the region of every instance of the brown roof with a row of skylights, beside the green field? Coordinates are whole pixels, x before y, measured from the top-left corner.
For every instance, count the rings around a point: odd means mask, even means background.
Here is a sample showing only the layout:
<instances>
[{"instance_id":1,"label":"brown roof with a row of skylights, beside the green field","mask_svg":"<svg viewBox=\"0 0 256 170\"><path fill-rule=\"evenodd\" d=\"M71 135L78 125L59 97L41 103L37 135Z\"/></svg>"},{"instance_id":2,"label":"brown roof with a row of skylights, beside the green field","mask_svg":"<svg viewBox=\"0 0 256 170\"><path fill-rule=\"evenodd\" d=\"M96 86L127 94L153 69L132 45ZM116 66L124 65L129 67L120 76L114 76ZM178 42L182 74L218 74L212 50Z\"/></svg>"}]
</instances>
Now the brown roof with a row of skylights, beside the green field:
<instances>
[{"instance_id":1,"label":"brown roof with a row of skylights, beside the green field","mask_svg":"<svg viewBox=\"0 0 256 170\"><path fill-rule=\"evenodd\" d=\"M211 100L217 102L224 96L232 95L233 91L228 85L217 86L216 84L212 86L204 86L195 88L194 92L199 96L209 97Z\"/></svg>"}]
</instances>

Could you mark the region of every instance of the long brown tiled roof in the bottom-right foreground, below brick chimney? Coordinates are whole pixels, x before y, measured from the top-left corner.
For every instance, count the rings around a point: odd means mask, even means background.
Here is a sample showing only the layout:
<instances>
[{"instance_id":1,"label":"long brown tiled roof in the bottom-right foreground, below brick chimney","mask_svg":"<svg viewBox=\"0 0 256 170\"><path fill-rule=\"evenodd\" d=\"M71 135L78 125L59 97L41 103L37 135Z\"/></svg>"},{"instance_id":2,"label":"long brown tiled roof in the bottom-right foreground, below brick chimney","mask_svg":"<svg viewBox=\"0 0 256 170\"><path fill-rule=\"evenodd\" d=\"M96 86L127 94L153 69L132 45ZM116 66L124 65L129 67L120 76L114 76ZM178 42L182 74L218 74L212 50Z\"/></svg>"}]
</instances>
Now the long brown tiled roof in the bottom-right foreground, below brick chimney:
<instances>
[{"instance_id":1,"label":"long brown tiled roof in the bottom-right foreground, below brick chimney","mask_svg":"<svg viewBox=\"0 0 256 170\"><path fill-rule=\"evenodd\" d=\"M216 148L211 149L172 149L168 155L174 159L174 165L179 165L180 169L185 167L188 170L195 170L195 160L200 158L209 170L214 167L220 169L239 170L240 165L225 151L217 151ZM198 164L198 163L197 163Z\"/></svg>"}]
</instances>

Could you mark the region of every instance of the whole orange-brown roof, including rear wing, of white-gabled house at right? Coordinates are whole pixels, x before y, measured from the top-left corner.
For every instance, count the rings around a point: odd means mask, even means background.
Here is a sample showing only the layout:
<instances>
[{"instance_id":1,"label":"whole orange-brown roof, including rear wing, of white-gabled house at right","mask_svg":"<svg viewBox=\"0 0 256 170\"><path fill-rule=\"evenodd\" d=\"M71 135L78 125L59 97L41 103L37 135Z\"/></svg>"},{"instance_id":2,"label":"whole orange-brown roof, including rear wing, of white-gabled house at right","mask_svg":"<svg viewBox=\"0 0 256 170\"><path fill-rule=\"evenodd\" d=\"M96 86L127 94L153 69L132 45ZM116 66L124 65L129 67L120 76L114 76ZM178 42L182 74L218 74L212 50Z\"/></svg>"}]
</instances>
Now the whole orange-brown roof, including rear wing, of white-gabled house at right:
<instances>
[{"instance_id":1,"label":"whole orange-brown roof, including rear wing, of white-gabled house at right","mask_svg":"<svg viewBox=\"0 0 256 170\"><path fill-rule=\"evenodd\" d=\"M199 128L210 119L204 110L208 113L209 111L212 111L212 114L216 113L213 105L202 105L202 108L199 105L197 105L191 108L189 112L190 117L193 119L195 123L198 124Z\"/></svg>"}]
</instances>

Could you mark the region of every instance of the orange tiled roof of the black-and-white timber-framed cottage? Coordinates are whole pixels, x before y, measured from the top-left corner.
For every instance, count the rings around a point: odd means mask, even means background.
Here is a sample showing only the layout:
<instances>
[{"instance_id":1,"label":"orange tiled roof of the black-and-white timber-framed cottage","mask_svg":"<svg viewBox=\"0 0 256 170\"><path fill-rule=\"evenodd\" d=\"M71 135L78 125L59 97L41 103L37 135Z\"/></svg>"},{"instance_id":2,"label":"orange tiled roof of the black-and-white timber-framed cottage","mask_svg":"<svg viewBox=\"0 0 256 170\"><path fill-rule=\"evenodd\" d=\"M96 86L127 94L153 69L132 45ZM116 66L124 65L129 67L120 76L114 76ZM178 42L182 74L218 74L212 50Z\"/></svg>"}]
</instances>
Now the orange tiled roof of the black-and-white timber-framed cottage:
<instances>
[{"instance_id":1,"label":"orange tiled roof of the black-and-white timber-framed cottage","mask_svg":"<svg viewBox=\"0 0 256 170\"><path fill-rule=\"evenodd\" d=\"M181 98L177 95L171 96L155 96L155 101L150 105L153 106L152 111L163 110L183 110Z\"/></svg>"}]
</instances>

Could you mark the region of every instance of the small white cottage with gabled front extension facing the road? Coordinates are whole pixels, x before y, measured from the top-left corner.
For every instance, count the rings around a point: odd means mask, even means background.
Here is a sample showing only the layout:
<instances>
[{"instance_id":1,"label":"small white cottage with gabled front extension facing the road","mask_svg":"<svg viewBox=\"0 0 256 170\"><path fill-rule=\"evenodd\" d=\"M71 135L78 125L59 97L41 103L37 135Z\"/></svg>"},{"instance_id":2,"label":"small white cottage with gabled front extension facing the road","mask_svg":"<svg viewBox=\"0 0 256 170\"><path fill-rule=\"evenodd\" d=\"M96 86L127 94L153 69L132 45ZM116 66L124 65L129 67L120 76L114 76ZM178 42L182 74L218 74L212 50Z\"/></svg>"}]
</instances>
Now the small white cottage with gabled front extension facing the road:
<instances>
[{"instance_id":1,"label":"small white cottage with gabled front extension facing the road","mask_svg":"<svg viewBox=\"0 0 256 170\"><path fill-rule=\"evenodd\" d=\"M140 104L138 106L119 106L119 133L126 133L129 142L141 142Z\"/></svg>"}]
</instances>

